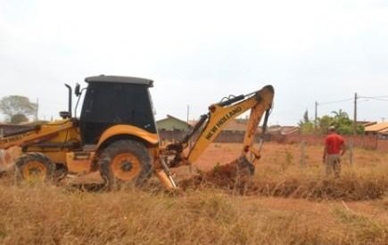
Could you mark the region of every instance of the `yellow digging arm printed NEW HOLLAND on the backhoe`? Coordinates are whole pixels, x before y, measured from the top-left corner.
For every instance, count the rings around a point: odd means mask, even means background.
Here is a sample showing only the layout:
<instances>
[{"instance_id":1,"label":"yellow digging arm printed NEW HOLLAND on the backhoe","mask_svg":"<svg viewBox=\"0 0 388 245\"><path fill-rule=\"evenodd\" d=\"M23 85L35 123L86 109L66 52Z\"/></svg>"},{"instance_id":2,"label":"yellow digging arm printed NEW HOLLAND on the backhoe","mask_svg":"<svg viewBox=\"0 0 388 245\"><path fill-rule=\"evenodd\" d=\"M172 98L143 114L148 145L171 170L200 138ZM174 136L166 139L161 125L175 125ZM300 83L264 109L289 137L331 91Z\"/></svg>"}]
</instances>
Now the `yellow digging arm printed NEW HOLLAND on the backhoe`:
<instances>
[{"instance_id":1,"label":"yellow digging arm printed NEW HOLLAND on the backhoe","mask_svg":"<svg viewBox=\"0 0 388 245\"><path fill-rule=\"evenodd\" d=\"M214 142L229 121L237 118L248 110L251 110L250 118L245 130L244 143L239 162L242 167L249 167L251 173L253 173L254 161L260 158L262 145L262 137L260 137L259 148L254 148L254 138L263 115L265 115L265 118L261 135L263 135L267 127L268 115L272 107L274 94L273 86L264 86L259 91L251 94L242 94L229 98L223 102L212 104L209 107L209 112L202 115L197 124L181 142L171 143L166 147L167 155L172 154L174 158L169 162L161 160L161 165L169 178L169 182L172 183L172 188L175 187L175 184L173 183L172 177L169 176L170 172L168 168L193 164L195 160L202 155L202 152L206 150L209 144ZM188 153L185 154L184 150L189 147L190 142L193 143L193 146L191 146L189 151L186 151ZM165 183L165 185L168 184Z\"/></svg>"}]
</instances>

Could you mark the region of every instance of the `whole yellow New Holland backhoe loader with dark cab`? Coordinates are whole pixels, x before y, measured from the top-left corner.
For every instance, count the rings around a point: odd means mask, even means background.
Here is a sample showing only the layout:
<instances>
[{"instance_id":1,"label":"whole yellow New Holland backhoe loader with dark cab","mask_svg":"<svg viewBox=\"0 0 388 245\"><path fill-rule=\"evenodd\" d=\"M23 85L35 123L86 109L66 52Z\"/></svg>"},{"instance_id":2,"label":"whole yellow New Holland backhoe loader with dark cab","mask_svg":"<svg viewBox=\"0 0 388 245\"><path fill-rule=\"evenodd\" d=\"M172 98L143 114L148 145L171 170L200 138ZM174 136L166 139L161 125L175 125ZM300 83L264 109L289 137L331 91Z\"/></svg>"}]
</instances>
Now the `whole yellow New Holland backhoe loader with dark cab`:
<instances>
[{"instance_id":1,"label":"whole yellow New Holland backhoe loader with dark cab","mask_svg":"<svg viewBox=\"0 0 388 245\"><path fill-rule=\"evenodd\" d=\"M149 94L153 80L96 76L85 81L86 88L75 87L78 102L83 97L79 117L72 114L72 88L65 85L69 109L60 112L61 120L0 135L0 149L21 147L21 157L15 161L17 179L55 181L68 173L99 170L111 188L120 183L144 184L154 173L167 189L175 189L170 168L193 164L227 122L247 110L251 110L250 118L236 171L245 168L253 173L262 138L258 149L253 143L263 116L263 131L266 128L272 86L212 104L182 141L161 147ZM75 111L74 115L77 106Z\"/></svg>"}]
</instances>

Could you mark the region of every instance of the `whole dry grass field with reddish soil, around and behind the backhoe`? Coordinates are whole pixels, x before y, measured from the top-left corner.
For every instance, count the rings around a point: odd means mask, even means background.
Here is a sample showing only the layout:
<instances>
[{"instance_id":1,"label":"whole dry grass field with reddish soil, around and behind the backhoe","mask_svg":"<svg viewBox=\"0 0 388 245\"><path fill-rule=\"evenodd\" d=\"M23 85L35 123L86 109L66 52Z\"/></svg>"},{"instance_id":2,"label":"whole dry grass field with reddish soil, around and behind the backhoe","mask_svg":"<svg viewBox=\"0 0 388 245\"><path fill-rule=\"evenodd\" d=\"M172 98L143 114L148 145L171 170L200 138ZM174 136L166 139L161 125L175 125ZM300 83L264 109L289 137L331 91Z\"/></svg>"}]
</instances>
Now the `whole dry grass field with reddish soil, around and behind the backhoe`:
<instances>
[{"instance_id":1,"label":"whole dry grass field with reddish soil, around and behind the backhoe","mask_svg":"<svg viewBox=\"0 0 388 245\"><path fill-rule=\"evenodd\" d=\"M234 159L212 144L195 167ZM356 149L343 176L326 178L320 146L267 143L244 194L232 186L81 192L0 179L2 244L388 244L387 154ZM196 171L193 170L193 173ZM187 167L177 177L190 176Z\"/></svg>"}]
</instances>

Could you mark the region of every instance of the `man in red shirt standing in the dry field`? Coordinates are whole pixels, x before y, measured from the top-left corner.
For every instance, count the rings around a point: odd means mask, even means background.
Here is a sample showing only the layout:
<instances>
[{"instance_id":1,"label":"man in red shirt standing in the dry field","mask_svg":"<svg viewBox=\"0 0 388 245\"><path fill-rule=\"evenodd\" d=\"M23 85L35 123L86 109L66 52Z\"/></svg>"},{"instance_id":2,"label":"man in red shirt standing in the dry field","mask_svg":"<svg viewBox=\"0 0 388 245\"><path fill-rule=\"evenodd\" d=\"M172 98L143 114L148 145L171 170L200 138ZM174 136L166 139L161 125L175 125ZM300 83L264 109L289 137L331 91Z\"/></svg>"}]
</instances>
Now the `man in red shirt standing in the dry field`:
<instances>
[{"instance_id":1,"label":"man in red shirt standing in the dry field","mask_svg":"<svg viewBox=\"0 0 388 245\"><path fill-rule=\"evenodd\" d=\"M334 176L339 177L341 174L341 156L346 151L345 140L335 133L334 126L329 127L328 132L323 153L323 161L326 163L326 176L331 176L334 172Z\"/></svg>"}]
</instances>

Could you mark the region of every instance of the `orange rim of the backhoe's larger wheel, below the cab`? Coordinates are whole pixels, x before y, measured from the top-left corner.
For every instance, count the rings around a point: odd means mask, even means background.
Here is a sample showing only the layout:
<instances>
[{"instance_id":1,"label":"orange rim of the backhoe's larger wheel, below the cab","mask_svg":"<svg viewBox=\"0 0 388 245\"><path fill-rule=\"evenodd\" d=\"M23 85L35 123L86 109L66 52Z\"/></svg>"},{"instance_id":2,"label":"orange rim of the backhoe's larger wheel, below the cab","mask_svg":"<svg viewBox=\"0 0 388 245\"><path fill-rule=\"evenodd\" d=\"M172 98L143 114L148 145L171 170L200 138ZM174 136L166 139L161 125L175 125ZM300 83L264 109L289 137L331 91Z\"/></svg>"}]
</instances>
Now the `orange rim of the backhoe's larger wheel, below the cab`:
<instances>
[{"instance_id":1,"label":"orange rim of the backhoe's larger wheel, below the cab","mask_svg":"<svg viewBox=\"0 0 388 245\"><path fill-rule=\"evenodd\" d=\"M113 175L123 181L135 178L140 173L141 166L139 159L131 153L121 153L111 162Z\"/></svg>"}]
</instances>

